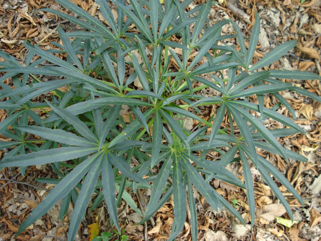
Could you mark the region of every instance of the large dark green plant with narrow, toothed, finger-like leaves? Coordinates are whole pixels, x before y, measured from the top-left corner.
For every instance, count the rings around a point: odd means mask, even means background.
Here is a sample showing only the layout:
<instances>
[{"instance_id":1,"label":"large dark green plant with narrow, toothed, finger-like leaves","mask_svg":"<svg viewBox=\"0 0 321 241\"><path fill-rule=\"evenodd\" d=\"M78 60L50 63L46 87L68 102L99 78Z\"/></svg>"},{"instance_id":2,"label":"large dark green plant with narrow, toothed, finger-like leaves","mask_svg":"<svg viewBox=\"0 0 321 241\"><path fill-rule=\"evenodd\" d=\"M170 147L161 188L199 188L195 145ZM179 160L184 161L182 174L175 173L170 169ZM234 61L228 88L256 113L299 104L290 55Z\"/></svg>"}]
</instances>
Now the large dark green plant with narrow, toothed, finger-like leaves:
<instances>
[{"instance_id":1,"label":"large dark green plant with narrow, toothed, finger-like leaves","mask_svg":"<svg viewBox=\"0 0 321 241\"><path fill-rule=\"evenodd\" d=\"M239 212L209 184L213 178L246 189L253 227L255 199L250 163L293 219L291 208L275 181L284 185L301 203L302 199L277 168L257 155L256 148L286 160L307 161L282 147L276 139L298 132L304 134L294 121L276 112L284 105L295 118L291 105L278 92L290 90L317 101L321 98L280 79L320 77L310 72L259 71L293 49L295 40L279 45L252 65L260 31L258 14L247 49L245 38L233 21L214 23L207 18L215 4L211 1L186 12L191 0L165 1L165 4L158 0L130 0L130 5L124 0L114 0L112 3L117 6L117 17L114 17L107 1L96 0L108 26L69 1L56 2L80 18L57 10L45 10L86 31L66 33L59 27L62 45L53 43L57 48L47 51L26 42L29 51L23 63L0 52L5 59L0 63L1 71L6 73L0 81L1 108L8 113L0 123L0 133L13 139L0 143L2 148L10 150L1 160L0 167L20 166L24 174L26 166L50 164L58 176L58 179L37 179L56 186L24 220L18 234L60 200L62 219L73 201L75 208L68 233L68 240L73 240L93 193L98 195L92 209L104 200L111 223L120 232L117 206L121 199L142 215L125 187L133 192L137 188L152 189L142 222L151 218L174 195L174 222L169 240L177 237L184 226L187 197L192 238L197 240L192 186L214 210L225 207L245 224ZM236 35L221 34L222 26L228 23L233 24ZM132 24L139 33L129 31ZM171 41L173 35L180 41ZM234 45L219 44L230 38L238 39L240 51ZM146 48L152 49L151 58ZM176 54L174 48L181 49L181 54ZM133 52L137 49L142 63ZM197 54L190 60L195 51ZM54 55L57 53L64 53L67 58L60 59ZM170 58L179 69L170 68ZM128 67L133 67L134 71L129 73ZM228 76L224 78L222 70L227 69ZM54 76L54 80L43 82L36 77L38 75ZM3 81L8 78L12 81L6 85ZM135 79L141 88L135 88ZM196 82L198 87L193 88ZM66 92L59 91L63 86L67 86ZM204 88L213 88L220 94L199 95L198 91ZM52 93L51 101L39 102L36 97L48 92ZM271 109L266 108L265 94L272 94L279 103ZM253 95L257 96L258 104L248 101ZM209 104L219 108L210 120L205 121L197 116L198 107ZM120 116L124 105L130 108L130 123L125 123ZM45 107L51 111L43 120L33 109ZM230 123L236 122L237 130L233 129L233 124L229 130L220 129L225 113ZM186 130L177 116L192 118L199 124L193 131ZM267 129L263 124L267 118L281 122L287 128ZM12 129L8 129L9 126ZM42 139L28 140L28 133ZM34 144L39 141L43 142L40 147ZM218 152L221 158L217 161L206 159L210 150ZM224 168L239 161L244 183ZM156 165L159 172L153 168Z\"/></svg>"}]
</instances>

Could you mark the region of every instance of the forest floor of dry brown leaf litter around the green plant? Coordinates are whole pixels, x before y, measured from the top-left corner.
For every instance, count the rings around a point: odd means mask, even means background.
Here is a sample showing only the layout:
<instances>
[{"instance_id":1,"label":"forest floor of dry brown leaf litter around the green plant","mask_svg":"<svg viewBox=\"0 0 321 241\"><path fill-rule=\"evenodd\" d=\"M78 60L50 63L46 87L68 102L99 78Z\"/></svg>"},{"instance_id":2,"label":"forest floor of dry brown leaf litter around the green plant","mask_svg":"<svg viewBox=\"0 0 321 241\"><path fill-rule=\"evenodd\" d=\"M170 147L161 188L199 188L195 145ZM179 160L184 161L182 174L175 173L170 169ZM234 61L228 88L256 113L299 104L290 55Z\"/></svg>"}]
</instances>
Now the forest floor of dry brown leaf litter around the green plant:
<instances>
[{"instance_id":1,"label":"forest floor of dry brown leaf litter around the green plant","mask_svg":"<svg viewBox=\"0 0 321 241\"><path fill-rule=\"evenodd\" d=\"M168 1L168 0L165 0ZM98 5L92 0L73 0L91 15L102 20ZM204 0L194 1L188 6L194 8ZM279 62L272 64L269 69L306 70L321 75L320 69L320 47L321 47L321 1L320 0L222 0L220 4L213 5L210 15L212 21L232 18L241 28L246 37L250 37L255 20L255 10L261 17L261 34L259 46L256 49L256 60L262 58L269 50L281 43L295 39L298 41L293 52L288 53ZM111 5L114 11L114 6ZM59 42L57 26L60 25L65 31L74 31L79 26L59 19L58 16L43 11L35 12L40 8L56 9L70 13L53 0L0 0L0 49L11 54L18 60L25 58L26 49L23 41L28 40L32 44L40 43L42 49L52 49L53 41ZM70 13L72 14L72 13ZM115 13L116 14L116 13ZM134 26L133 26L134 31ZM235 33L231 24L223 27L222 34ZM235 39L225 41L234 43ZM63 56L60 56L63 58ZM223 73L224 74L224 73ZM290 80L288 80L290 81ZM296 85L321 95L320 81L297 81ZM215 95L210 89L204 89L200 94L205 96ZM50 95L50 93L45 96ZM285 209L276 200L270 188L262 181L260 174L253 168L256 195L256 224L252 230L249 225L239 224L226 210L215 212L198 192L194 192L196 207L198 210L199 235L198 240L312 240L321 241L321 104L316 101L302 97L299 94L283 92L282 95L291 103L295 110L295 120L307 135L296 134L279 141L284 147L299 152L308 158L307 163L285 162L276 155L258 150L258 153L269 160L273 165L288 178L304 200L301 206L294 197L280 186L281 191L290 203L294 220L296 223L290 228L282 224L282 220L276 217L289 219ZM256 99L251 101L256 102ZM271 108L277 100L272 95L265 98L265 106ZM203 118L209 118L216 112L215 105L209 105L202 111ZM279 108L279 113L290 116L285 108ZM39 112L39 115L45 113ZM126 119L126 112L123 113ZM128 114L127 114L128 115ZM6 118L6 112L0 110L0 120ZM185 120L184 125L193 127L195 123ZM225 126L224 126L225 125ZM229 127L227 118L223 121L222 128ZM268 119L266 126L282 128L282 125ZM236 127L235 123L234 126ZM0 140L5 137L0 135ZM5 150L0 152L0 157ZM209 156L215 160L218 154L213 152ZM240 178L242 172L240 165L235 163L228 168ZM43 185L35 181L36 177L54 177L55 174L47 166L31 166L26 170L26 175L21 176L18 168L5 169L0 172L0 241L3 240L66 240L70 213L73 210L70 205L68 215L64 220L59 220L60 203L56 204L42 219L27 228L21 235L15 237L22 220L46 195L48 189L53 185ZM231 186L227 183L215 180L211 185L234 204L235 208L242 213L244 219L249 216L246 194L241 188ZM133 199L141 208L146 206L149 200L149 191L132 193ZM90 203L89 207L92 203ZM119 206L121 228L129 240L165 240L170 232L173 222L173 202L169 200L154 216L153 221L144 225L135 225L141 220L134 210L125 202ZM91 240L90 235L95 232L112 231L108 219L108 212L101 204L97 209L90 211L88 208L85 218L79 228L76 240ZM118 240L116 235L111 240ZM185 228L176 240L191 240L190 226L187 222Z\"/></svg>"}]
</instances>

